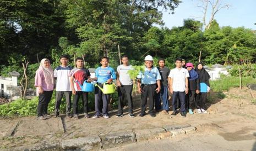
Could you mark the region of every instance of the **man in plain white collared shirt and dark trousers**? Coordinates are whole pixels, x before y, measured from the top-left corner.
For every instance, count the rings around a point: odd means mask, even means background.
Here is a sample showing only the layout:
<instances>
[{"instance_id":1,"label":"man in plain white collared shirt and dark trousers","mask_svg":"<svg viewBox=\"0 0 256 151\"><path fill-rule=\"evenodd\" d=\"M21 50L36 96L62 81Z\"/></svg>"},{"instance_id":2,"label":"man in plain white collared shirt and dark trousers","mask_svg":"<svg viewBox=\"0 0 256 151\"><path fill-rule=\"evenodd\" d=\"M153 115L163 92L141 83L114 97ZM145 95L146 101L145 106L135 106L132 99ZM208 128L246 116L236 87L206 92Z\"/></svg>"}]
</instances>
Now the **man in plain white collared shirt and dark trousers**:
<instances>
[{"instance_id":1,"label":"man in plain white collared shirt and dark trousers","mask_svg":"<svg viewBox=\"0 0 256 151\"><path fill-rule=\"evenodd\" d=\"M186 117L185 98L188 94L188 70L182 68L182 59L176 59L176 68L172 69L169 76L169 88L172 96L172 115L178 114L177 98L181 101L181 116Z\"/></svg>"}]
</instances>

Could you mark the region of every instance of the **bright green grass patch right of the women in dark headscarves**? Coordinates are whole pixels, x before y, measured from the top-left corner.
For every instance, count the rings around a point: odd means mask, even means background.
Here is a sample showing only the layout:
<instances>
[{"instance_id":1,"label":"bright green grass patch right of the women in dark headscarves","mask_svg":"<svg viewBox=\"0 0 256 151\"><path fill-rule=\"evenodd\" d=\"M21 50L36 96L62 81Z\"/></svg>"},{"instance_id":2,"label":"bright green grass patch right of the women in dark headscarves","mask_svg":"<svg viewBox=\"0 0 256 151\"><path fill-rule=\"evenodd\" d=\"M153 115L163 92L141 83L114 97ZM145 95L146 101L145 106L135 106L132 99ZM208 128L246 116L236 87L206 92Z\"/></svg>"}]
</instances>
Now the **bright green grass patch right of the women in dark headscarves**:
<instances>
[{"instance_id":1,"label":"bright green grass patch right of the women in dark headscarves","mask_svg":"<svg viewBox=\"0 0 256 151\"><path fill-rule=\"evenodd\" d=\"M221 75L221 79L210 81L210 86L214 92L222 92L228 91L230 88L238 88L240 86L239 83L239 77ZM252 83L256 84L256 79L253 77L242 77L242 86Z\"/></svg>"}]
</instances>

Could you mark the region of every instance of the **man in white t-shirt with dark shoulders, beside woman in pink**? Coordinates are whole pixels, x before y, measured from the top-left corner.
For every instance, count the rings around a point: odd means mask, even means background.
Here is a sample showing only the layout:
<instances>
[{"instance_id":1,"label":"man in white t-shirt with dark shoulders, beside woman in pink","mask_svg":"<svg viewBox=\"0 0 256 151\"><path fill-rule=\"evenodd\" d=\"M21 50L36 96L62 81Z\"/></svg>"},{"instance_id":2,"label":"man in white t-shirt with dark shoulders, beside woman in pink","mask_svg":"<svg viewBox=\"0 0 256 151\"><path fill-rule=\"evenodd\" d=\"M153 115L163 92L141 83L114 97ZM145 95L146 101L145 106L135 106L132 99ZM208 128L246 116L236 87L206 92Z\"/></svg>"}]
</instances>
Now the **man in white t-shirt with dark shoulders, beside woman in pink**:
<instances>
[{"instance_id":1,"label":"man in white t-shirt with dark shoulders, beside woman in pink","mask_svg":"<svg viewBox=\"0 0 256 151\"><path fill-rule=\"evenodd\" d=\"M61 106L61 100L63 95L66 97L66 115L67 118L72 118L71 111L71 96L72 89L69 82L69 73L73 69L68 66L68 56L60 56L61 66L55 68L54 77L57 79L56 82L56 102L55 102L55 117L59 115L59 107Z\"/></svg>"}]
</instances>

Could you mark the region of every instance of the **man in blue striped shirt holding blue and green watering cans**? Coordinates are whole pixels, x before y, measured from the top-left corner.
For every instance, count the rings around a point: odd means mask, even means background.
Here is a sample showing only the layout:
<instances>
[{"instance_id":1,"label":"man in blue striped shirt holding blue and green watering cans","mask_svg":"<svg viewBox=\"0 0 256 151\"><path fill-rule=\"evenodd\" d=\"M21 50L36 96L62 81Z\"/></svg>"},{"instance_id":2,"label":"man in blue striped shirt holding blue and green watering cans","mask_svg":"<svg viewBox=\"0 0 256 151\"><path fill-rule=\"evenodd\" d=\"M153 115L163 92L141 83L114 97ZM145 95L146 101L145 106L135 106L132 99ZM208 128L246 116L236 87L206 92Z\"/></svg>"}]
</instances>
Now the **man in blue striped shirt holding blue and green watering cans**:
<instances>
[{"instance_id":1,"label":"man in blue striped shirt holding blue and green watering cans","mask_svg":"<svg viewBox=\"0 0 256 151\"><path fill-rule=\"evenodd\" d=\"M88 82L91 80L97 80L97 84L102 88L104 83L111 83L116 79L115 70L108 67L108 57L102 57L101 67L96 68L95 78L89 78ZM104 94L97 86L95 88L95 111L96 114L92 118L99 118L102 116L108 119L108 102L110 102L110 94ZM103 103L103 108L101 104Z\"/></svg>"}]
</instances>

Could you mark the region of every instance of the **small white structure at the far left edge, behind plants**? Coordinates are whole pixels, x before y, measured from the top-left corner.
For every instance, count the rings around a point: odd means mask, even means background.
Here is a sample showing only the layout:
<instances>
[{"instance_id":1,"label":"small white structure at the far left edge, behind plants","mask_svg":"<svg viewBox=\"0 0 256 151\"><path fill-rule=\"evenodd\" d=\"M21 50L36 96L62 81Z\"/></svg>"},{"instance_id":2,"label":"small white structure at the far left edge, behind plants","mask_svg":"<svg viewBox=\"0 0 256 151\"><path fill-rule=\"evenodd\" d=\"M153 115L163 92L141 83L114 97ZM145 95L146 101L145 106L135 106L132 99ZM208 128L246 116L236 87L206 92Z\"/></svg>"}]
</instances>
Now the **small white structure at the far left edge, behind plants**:
<instances>
[{"instance_id":1,"label":"small white structure at the far left edge, behind plants","mask_svg":"<svg viewBox=\"0 0 256 151\"><path fill-rule=\"evenodd\" d=\"M18 86L19 72L9 72L10 77L0 76L0 97L16 100L20 98L20 86Z\"/></svg>"}]
</instances>

